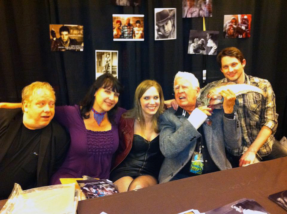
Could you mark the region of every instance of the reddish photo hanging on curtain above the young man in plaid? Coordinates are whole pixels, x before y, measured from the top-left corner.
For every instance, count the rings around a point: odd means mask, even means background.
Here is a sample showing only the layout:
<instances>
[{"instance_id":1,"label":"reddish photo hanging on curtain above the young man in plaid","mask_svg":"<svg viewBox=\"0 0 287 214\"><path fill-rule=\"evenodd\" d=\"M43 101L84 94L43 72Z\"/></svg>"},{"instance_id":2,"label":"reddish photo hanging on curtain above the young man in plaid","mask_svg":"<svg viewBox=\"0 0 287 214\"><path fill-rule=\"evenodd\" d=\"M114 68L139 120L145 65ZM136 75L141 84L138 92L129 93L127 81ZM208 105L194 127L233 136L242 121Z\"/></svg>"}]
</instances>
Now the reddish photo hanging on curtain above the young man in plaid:
<instances>
[{"instance_id":1,"label":"reddish photo hanging on curtain above the young man in plaid","mask_svg":"<svg viewBox=\"0 0 287 214\"><path fill-rule=\"evenodd\" d=\"M249 38L251 14L224 15L223 38Z\"/></svg>"}]
</instances>

